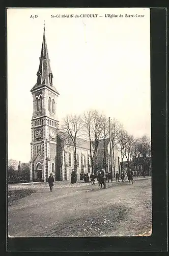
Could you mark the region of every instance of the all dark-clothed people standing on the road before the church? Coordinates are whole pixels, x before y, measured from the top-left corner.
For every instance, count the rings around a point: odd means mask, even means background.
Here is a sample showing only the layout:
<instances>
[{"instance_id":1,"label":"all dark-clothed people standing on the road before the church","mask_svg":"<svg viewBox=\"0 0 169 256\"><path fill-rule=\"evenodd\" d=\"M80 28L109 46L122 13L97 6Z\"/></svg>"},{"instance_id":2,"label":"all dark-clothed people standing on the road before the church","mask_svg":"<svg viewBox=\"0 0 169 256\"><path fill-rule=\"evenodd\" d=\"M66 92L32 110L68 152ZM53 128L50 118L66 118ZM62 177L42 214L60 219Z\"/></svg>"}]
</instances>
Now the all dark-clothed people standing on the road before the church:
<instances>
[{"instance_id":1,"label":"all dark-clothed people standing on the road before the church","mask_svg":"<svg viewBox=\"0 0 169 256\"><path fill-rule=\"evenodd\" d=\"M121 176L122 182L124 182L125 181L125 174L123 172L121 173L121 175L118 172L116 173L116 181L119 182L120 176ZM131 172L131 169L129 169L129 171L127 173L127 176L128 176L129 184L133 184L133 174ZM106 188L106 181L109 182L109 180L111 180L111 182L112 182L111 172L108 172L106 174L105 170L103 168L97 172L97 175L95 175L94 173L92 173L90 175L92 185L95 185L95 179L96 178L98 180L100 188L102 188L102 185L103 185L103 188ZM86 173L85 174L80 173L80 180L83 180L83 179L84 179L84 182L89 182L88 173L87 174ZM76 181L77 181L77 174L73 169L72 173L71 173L71 181L70 182L72 184L74 184L74 183L76 183ZM50 192L51 192L52 188L53 188L53 183L54 183L54 178L53 178L52 174L50 174L50 176L48 178L48 183L49 183Z\"/></svg>"}]
</instances>

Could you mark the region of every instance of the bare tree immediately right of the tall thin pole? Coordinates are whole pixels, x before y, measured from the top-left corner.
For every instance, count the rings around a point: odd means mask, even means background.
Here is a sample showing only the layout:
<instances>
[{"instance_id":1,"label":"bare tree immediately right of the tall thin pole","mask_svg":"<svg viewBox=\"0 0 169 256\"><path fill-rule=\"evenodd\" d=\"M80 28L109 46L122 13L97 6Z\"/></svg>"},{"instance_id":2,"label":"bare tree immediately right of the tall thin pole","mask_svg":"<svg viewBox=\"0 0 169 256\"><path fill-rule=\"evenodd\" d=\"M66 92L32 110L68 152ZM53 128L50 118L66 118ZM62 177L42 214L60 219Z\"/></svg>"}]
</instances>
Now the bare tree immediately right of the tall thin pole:
<instances>
[{"instance_id":1,"label":"bare tree immediately right of the tall thin pole","mask_svg":"<svg viewBox=\"0 0 169 256\"><path fill-rule=\"evenodd\" d=\"M110 123L110 137L111 137L111 152L113 157L113 168L114 168L114 178L115 178L115 146L119 142L118 135L123 129L122 123L120 123L116 118L113 118Z\"/></svg>"}]
</instances>

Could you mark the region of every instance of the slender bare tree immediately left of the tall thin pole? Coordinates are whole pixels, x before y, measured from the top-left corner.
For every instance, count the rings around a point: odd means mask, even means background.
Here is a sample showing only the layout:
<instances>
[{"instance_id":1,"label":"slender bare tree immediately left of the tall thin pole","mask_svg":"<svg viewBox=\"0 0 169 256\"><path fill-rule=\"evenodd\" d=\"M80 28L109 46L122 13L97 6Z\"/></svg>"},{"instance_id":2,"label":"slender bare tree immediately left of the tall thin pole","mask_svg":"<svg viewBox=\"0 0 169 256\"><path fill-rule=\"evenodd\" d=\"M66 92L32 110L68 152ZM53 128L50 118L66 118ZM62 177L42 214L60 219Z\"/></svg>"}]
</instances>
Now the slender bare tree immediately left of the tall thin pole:
<instances>
[{"instance_id":1,"label":"slender bare tree immediately left of the tall thin pole","mask_svg":"<svg viewBox=\"0 0 169 256\"><path fill-rule=\"evenodd\" d=\"M103 141L104 141L104 155L103 155L103 168L105 169L105 172L107 170L107 163L106 163L106 139L108 137L108 134L109 134L109 122L108 122L108 119L103 116L102 118L102 123L103 123L103 129L102 129L102 133L101 133L101 136L103 138Z\"/></svg>"}]
</instances>

